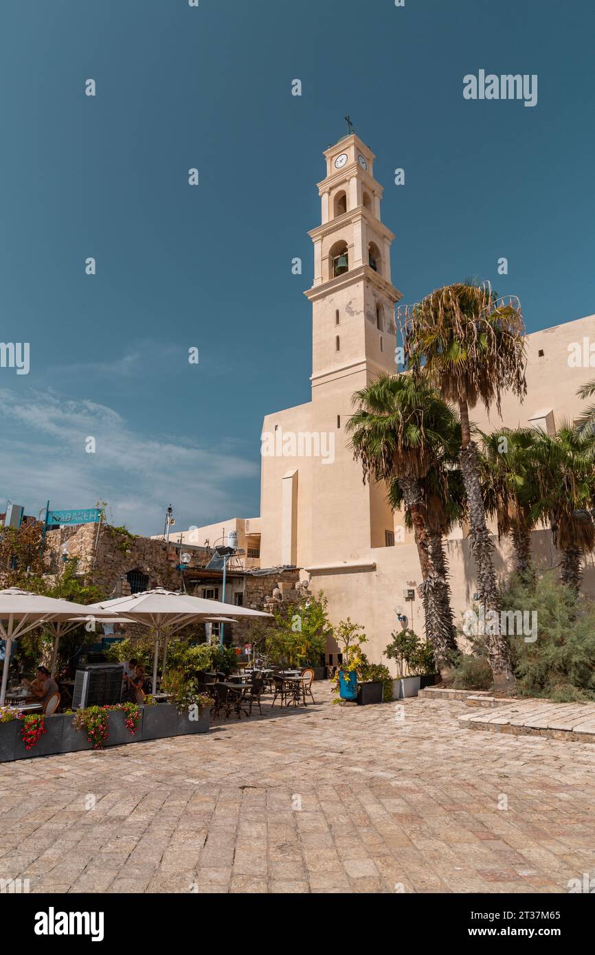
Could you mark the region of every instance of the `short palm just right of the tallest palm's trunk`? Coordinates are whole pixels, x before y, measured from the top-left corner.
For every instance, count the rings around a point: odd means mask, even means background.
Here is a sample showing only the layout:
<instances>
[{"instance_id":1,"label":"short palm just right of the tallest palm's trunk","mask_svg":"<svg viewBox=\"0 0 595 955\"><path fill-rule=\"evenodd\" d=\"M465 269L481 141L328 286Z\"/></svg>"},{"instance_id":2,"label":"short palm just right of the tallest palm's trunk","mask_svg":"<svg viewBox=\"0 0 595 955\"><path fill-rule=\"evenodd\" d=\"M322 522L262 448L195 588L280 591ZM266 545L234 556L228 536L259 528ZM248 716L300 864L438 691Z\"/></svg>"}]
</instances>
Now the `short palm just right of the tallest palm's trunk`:
<instances>
[{"instance_id":1,"label":"short palm just right of the tallest palm's trunk","mask_svg":"<svg viewBox=\"0 0 595 955\"><path fill-rule=\"evenodd\" d=\"M541 514L542 496L534 456L542 432L533 428L501 428L482 435L484 500L498 522L498 536L510 537L517 573L523 584L535 584L531 531Z\"/></svg>"}]
</instances>

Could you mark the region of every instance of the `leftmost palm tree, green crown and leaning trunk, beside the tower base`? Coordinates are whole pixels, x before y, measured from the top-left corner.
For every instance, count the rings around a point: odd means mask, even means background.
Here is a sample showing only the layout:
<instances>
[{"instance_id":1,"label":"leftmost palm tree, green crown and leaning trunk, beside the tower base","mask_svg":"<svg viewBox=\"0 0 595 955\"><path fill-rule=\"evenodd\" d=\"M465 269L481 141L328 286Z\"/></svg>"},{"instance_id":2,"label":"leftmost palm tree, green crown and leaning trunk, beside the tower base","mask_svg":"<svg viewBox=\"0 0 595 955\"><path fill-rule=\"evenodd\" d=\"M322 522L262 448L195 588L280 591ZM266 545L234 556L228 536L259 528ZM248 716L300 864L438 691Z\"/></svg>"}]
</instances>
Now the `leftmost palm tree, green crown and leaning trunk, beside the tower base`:
<instances>
[{"instance_id":1,"label":"leftmost palm tree, green crown and leaning trunk, beside the tower base","mask_svg":"<svg viewBox=\"0 0 595 955\"><path fill-rule=\"evenodd\" d=\"M355 408L348 422L351 450L359 460L364 481L396 480L411 516L422 576L426 638L434 648L443 678L451 668L454 641L452 615L442 610L444 581L436 569L436 552L428 522L421 481L436 465L445 435L454 427L453 413L436 393L411 375L381 375L352 397Z\"/></svg>"}]
</instances>

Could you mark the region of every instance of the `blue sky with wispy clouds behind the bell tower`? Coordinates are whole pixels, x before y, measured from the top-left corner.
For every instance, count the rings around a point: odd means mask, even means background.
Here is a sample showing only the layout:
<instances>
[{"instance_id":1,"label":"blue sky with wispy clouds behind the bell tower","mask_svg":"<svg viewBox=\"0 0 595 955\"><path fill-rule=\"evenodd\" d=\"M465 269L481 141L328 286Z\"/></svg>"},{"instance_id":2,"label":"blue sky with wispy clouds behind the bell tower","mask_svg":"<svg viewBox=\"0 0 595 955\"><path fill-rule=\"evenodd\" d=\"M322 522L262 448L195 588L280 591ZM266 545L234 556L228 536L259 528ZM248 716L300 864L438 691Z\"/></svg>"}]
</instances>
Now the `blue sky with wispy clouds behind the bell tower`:
<instances>
[{"instance_id":1,"label":"blue sky with wispy clouds behind the bell tower","mask_svg":"<svg viewBox=\"0 0 595 955\"><path fill-rule=\"evenodd\" d=\"M259 513L263 416L309 398L346 113L404 301L477 275L529 330L595 311L593 35L590 0L3 0L0 338L31 371L0 369L0 505L107 499L140 533L170 501L179 527ZM479 69L538 74L537 106L465 100Z\"/></svg>"}]
</instances>

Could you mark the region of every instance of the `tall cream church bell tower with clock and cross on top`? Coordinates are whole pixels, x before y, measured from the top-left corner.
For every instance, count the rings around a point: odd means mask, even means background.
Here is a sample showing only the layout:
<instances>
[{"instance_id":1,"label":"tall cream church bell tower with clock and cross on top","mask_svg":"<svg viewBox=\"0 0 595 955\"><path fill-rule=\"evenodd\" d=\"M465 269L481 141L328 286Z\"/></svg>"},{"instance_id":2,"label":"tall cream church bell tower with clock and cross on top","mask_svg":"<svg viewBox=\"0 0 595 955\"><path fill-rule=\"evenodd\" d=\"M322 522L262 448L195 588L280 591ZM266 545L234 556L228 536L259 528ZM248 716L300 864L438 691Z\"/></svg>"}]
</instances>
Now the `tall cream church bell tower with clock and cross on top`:
<instances>
[{"instance_id":1,"label":"tall cream church bell tower with clock and cross on top","mask_svg":"<svg viewBox=\"0 0 595 955\"><path fill-rule=\"evenodd\" d=\"M334 431L335 464L312 461L312 555L324 563L343 553L393 541L394 519L384 484L362 482L346 425L351 396L382 372L394 374L394 305L391 281L394 234L381 220L383 189L374 179L372 150L355 133L324 153L327 175L318 183L321 223L314 244L312 303L313 427ZM326 531L324 530L326 528Z\"/></svg>"}]
</instances>

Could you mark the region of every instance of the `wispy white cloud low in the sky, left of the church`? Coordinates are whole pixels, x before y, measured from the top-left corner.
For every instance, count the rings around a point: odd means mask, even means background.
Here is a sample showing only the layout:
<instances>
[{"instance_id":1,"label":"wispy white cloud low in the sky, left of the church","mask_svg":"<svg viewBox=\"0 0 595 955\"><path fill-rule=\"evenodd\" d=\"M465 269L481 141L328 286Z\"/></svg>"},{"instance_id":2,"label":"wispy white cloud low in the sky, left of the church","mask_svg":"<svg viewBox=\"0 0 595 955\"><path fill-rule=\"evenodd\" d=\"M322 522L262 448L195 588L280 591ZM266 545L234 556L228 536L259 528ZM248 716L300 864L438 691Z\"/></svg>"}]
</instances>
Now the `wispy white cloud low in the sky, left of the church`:
<instances>
[{"instance_id":1,"label":"wispy white cloud low in the sky, left of the church","mask_svg":"<svg viewBox=\"0 0 595 955\"><path fill-rule=\"evenodd\" d=\"M0 390L3 441L0 493L36 514L54 507L90 507L108 500L117 524L156 534L171 502L177 526L209 523L254 510L244 495L259 464L234 450L168 435L141 435L106 405L54 391L23 396ZM85 439L96 439L96 454Z\"/></svg>"}]
</instances>

